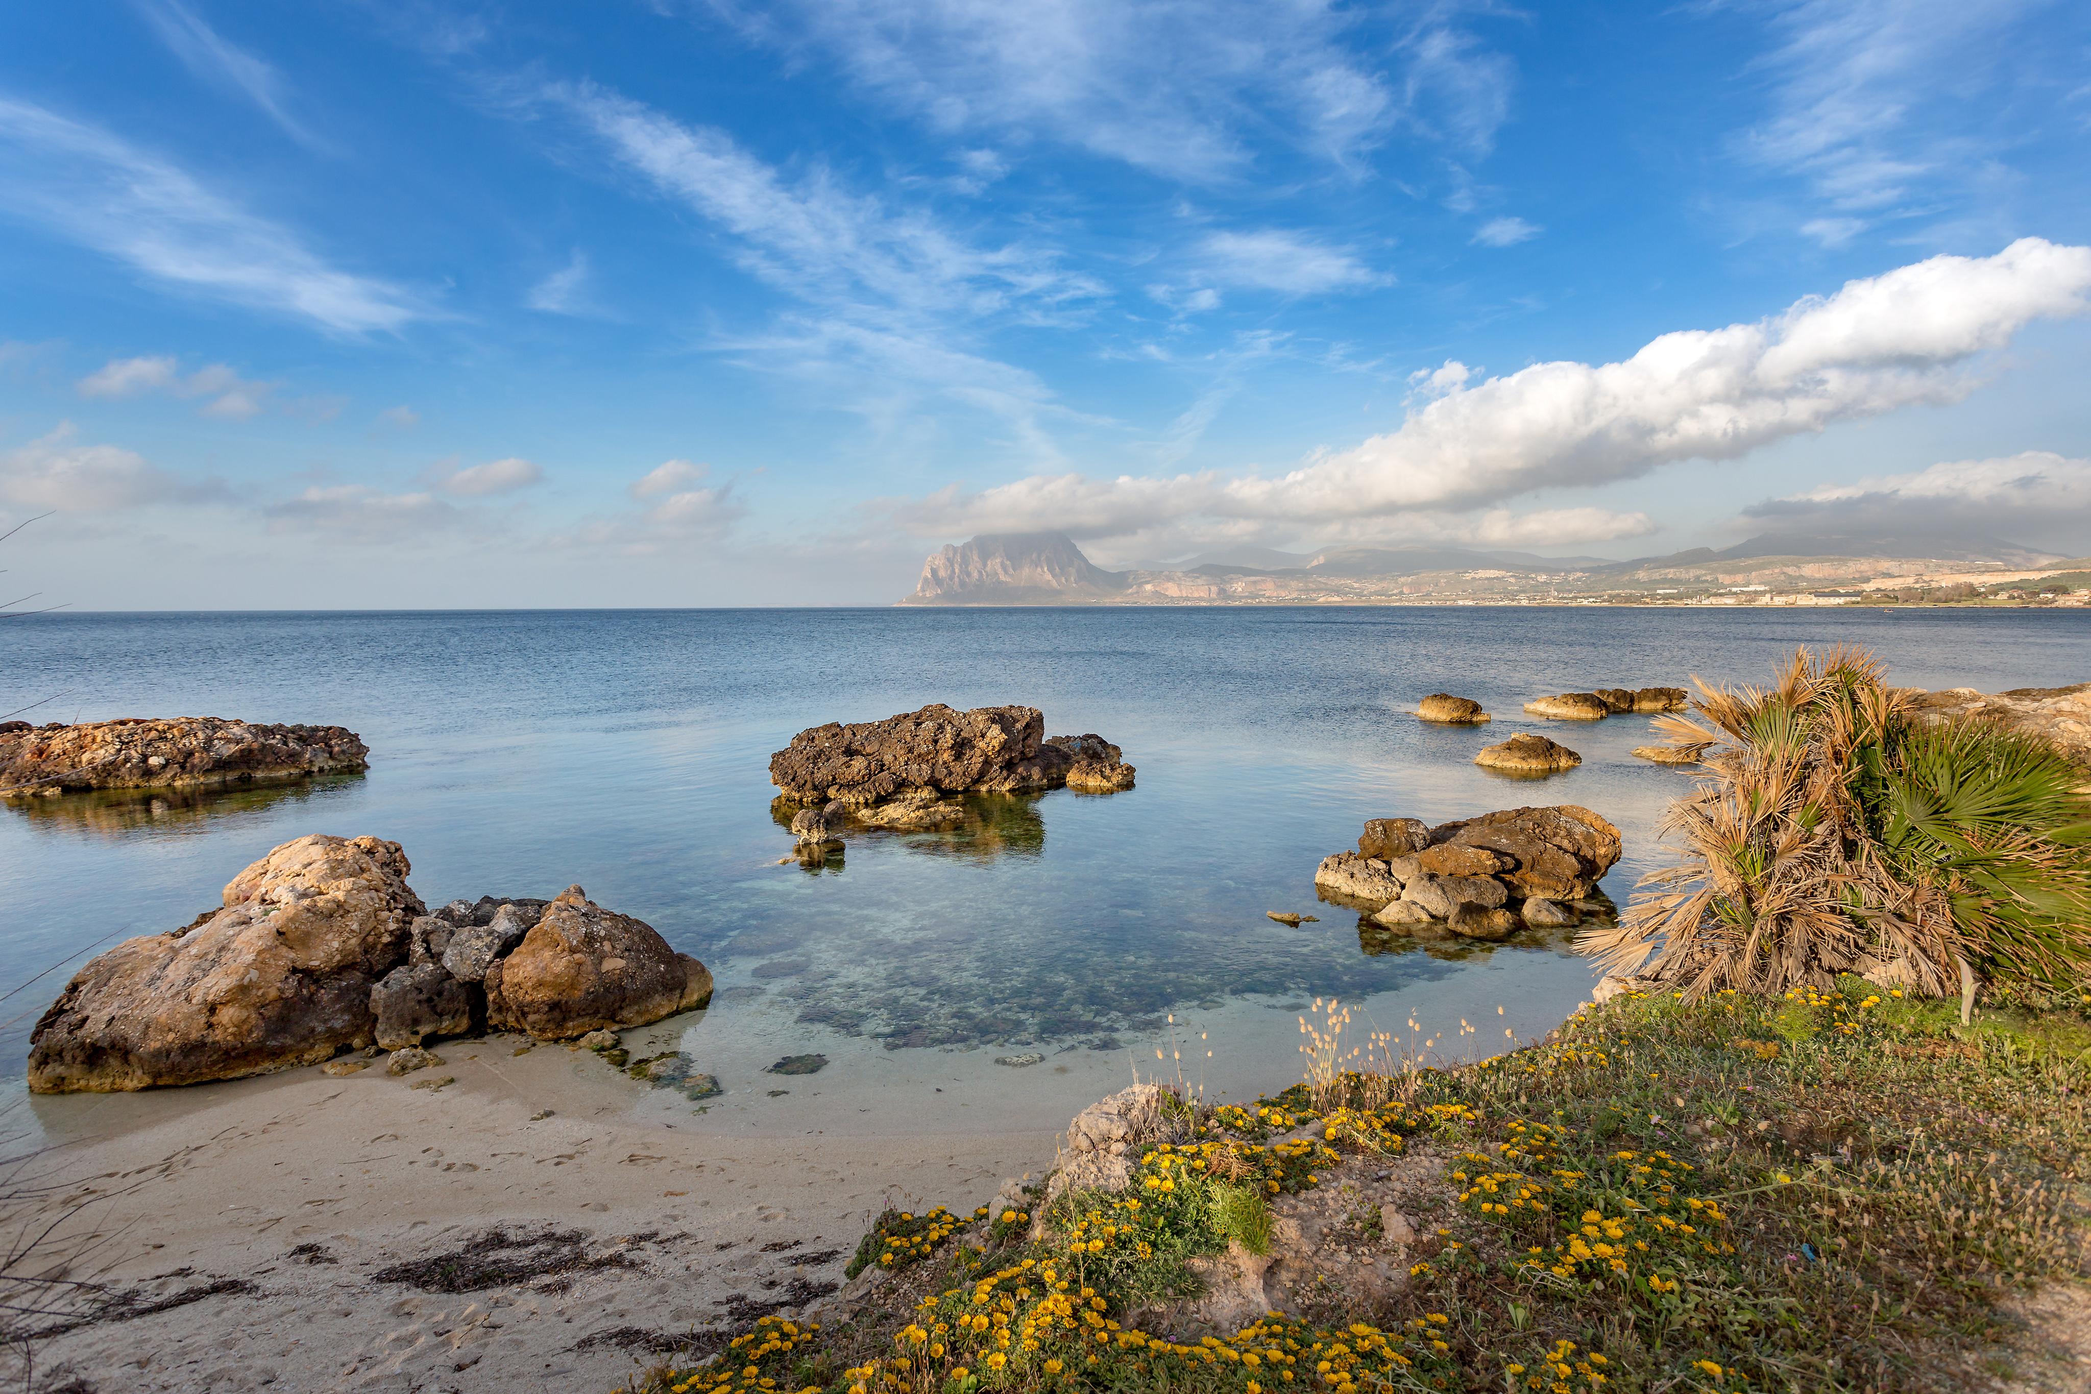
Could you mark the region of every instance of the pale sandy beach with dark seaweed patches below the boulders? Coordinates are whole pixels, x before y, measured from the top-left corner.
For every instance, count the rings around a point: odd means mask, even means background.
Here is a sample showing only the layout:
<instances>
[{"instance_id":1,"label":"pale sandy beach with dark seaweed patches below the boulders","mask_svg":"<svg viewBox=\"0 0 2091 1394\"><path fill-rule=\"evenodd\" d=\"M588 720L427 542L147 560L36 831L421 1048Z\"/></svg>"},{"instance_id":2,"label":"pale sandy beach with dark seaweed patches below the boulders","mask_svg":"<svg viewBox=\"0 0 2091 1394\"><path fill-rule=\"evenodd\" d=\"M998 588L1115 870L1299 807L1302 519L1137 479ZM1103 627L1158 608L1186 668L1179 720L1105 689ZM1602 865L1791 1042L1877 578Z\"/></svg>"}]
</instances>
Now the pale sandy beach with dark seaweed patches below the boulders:
<instances>
[{"instance_id":1,"label":"pale sandy beach with dark seaweed patches below the boulders","mask_svg":"<svg viewBox=\"0 0 2091 1394\"><path fill-rule=\"evenodd\" d=\"M1054 1156L1050 1131L845 1133L832 1110L749 1129L585 1051L516 1045L445 1043L406 1078L378 1058L36 1099L52 1143L8 1229L71 1212L42 1252L115 1302L36 1344L29 1388L611 1390L841 1283L889 1200L985 1204Z\"/></svg>"}]
</instances>

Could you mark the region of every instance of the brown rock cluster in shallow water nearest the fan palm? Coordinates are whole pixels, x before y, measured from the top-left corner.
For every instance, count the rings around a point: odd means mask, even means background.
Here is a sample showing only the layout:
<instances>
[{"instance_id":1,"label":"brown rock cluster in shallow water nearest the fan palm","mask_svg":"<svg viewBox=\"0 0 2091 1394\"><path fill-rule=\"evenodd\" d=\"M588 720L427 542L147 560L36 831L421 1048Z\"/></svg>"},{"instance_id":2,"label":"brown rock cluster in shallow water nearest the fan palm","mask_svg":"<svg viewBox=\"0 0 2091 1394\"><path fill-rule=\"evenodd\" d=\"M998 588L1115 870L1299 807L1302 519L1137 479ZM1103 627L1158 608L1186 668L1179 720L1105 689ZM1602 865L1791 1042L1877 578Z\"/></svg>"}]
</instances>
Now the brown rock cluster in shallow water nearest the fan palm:
<instances>
[{"instance_id":1,"label":"brown rock cluster in shallow water nearest the fan palm","mask_svg":"<svg viewBox=\"0 0 2091 1394\"><path fill-rule=\"evenodd\" d=\"M1315 890L1378 924L1495 940L1522 926L1564 928L1610 913L1598 882L1618 853L1618 828L1577 805L1503 809L1437 828L1376 817L1355 853L1322 861Z\"/></svg>"}]
</instances>

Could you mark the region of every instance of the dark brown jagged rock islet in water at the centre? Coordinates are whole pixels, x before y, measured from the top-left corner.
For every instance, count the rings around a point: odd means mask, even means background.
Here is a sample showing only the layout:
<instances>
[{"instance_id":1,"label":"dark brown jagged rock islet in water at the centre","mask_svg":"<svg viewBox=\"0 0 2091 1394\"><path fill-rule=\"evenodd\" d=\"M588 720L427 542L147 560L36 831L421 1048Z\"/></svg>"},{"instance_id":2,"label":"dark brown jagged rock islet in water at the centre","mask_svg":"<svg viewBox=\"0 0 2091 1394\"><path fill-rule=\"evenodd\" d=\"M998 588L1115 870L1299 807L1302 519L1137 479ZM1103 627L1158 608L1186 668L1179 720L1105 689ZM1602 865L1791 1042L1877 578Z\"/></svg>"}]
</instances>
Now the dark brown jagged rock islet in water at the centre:
<instances>
[{"instance_id":1,"label":"dark brown jagged rock islet in water at the centre","mask_svg":"<svg viewBox=\"0 0 2091 1394\"><path fill-rule=\"evenodd\" d=\"M1094 731L1048 740L1037 706L933 702L884 721L830 721L769 757L769 782L784 790L778 805L795 809L790 830L809 855L841 846L849 823L962 821L960 794L1115 794L1133 788L1133 773L1125 752Z\"/></svg>"}]
</instances>

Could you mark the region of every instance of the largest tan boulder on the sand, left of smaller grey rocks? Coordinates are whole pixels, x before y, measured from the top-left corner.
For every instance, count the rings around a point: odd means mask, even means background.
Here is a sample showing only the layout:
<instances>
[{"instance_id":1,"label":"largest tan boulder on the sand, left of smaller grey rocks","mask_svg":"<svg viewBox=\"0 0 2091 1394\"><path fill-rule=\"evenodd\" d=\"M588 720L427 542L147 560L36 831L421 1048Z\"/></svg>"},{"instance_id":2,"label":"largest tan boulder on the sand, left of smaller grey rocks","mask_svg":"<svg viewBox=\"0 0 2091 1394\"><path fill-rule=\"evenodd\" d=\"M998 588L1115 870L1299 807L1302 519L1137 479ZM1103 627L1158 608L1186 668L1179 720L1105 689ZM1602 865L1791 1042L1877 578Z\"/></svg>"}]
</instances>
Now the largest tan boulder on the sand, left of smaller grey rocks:
<instances>
[{"instance_id":1,"label":"largest tan boulder on the sand, left of smaller grey rocks","mask_svg":"<svg viewBox=\"0 0 2091 1394\"><path fill-rule=\"evenodd\" d=\"M194 1085L370 1045L370 989L422 913L408 869L378 838L284 842L222 909L88 961L29 1037L29 1089Z\"/></svg>"}]
</instances>

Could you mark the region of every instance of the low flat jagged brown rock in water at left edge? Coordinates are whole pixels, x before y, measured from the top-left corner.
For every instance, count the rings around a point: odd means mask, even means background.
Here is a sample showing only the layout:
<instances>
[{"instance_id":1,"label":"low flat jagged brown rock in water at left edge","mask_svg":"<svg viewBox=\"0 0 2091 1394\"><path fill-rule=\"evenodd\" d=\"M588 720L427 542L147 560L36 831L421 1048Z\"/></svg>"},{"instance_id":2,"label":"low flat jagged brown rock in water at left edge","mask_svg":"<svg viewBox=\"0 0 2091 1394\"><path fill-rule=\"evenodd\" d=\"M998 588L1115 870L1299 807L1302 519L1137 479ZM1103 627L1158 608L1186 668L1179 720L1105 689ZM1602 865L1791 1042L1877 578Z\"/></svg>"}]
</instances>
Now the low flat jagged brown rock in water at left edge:
<instances>
[{"instance_id":1,"label":"low flat jagged brown rock in water at left edge","mask_svg":"<svg viewBox=\"0 0 2091 1394\"><path fill-rule=\"evenodd\" d=\"M40 725L0 734L0 796L102 788L211 788L368 769L339 725L171 717Z\"/></svg>"}]
</instances>

